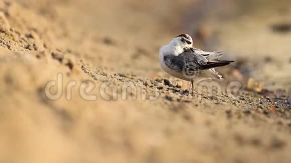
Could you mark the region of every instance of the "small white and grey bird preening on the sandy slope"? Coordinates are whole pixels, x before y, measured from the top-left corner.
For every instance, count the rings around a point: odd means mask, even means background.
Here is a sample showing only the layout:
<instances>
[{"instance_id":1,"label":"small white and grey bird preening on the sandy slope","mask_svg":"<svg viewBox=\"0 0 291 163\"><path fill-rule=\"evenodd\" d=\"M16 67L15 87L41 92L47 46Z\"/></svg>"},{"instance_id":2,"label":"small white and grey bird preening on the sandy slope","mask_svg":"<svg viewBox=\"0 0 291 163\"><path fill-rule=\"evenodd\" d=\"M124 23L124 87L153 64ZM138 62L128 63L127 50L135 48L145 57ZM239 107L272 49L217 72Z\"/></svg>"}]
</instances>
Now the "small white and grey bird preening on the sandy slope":
<instances>
[{"instance_id":1,"label":"small white and grey bird preening on the sandy slope","mask_svg":"<svg viewBox=\"0 0 291 163\"><path fill-rule=\"evenodd\" d=\"M192 37L188 34L180 34L160 48L161 67L174 77L190 81L189 91L192 89L192 93L194 80L203 77L200 74L205 70L223 80L215 67L228 65L234 61L219 60L222 55L222 52L208 52L193 47Z\"/></svg>"}]
</instances>

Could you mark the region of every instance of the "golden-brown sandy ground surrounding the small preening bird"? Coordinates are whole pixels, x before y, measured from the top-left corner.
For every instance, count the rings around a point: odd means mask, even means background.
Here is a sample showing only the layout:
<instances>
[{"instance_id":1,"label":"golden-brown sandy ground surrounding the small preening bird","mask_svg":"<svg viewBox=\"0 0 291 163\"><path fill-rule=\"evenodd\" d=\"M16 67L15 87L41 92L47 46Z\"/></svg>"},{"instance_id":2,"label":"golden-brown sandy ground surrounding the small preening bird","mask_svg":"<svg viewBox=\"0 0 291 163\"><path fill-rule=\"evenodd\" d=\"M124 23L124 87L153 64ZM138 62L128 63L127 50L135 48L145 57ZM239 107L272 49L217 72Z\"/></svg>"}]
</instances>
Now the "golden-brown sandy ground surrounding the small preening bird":
<instances>
[{"instance_id":1,"label":"golden-brown sandy ground surrounding the small preening bird","mask_svg":"<svg viewBox=\"0 0 291 163\"><path fill-rule=\"evenodd\" d=\"M291 36L269 27L290 10L219 19L204 5L1 0L0 162L290 162ZM222 93L187 95L160 68L159 48L183 32L236 60L219 69Z\"/></svg>"}]
</instances>

